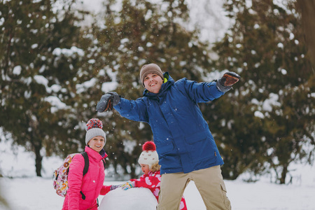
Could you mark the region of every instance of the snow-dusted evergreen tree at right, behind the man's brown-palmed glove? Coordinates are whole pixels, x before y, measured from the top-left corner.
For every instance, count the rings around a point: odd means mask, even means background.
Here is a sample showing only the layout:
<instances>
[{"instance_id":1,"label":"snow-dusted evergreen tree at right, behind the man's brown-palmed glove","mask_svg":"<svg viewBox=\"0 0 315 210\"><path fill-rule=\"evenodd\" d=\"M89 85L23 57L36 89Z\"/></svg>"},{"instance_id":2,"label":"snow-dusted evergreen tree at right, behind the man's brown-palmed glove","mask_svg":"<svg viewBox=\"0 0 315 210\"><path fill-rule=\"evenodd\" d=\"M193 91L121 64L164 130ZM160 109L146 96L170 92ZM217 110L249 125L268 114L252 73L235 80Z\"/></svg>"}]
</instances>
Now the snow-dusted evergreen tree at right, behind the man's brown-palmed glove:
<instances>
[{"instance_id":1,"label":"snow-dusted evergreen tree at right, behind the man's brown-palmed glove","mask_svg":"<svg viewBox=\"0 0 315 210\"><path fill-rule=\"evenodd\" d=\"M242 78L213 106L220 114L209 116L218 122L213 132L223 149L223 176L267 167L285 183L291 162L312 162L315 144L314 72L300 15L294 1L226 1L225 8L235 24L216 43L214 66Z\"/></svg>"}]
</instances>

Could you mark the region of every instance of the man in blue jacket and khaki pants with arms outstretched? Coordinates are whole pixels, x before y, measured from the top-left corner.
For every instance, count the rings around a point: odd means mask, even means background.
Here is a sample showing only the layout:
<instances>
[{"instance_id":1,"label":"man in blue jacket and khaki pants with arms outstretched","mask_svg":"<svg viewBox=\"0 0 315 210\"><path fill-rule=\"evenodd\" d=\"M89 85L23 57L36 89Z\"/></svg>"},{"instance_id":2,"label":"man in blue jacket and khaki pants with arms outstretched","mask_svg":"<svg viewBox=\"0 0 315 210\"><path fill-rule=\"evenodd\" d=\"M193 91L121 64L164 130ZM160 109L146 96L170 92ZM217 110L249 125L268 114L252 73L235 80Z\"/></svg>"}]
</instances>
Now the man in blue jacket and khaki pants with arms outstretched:
<instances>
[{"instance_id":1,"label":"man in blue jacket and khaki pants with arms outstretched","mask_svg":"<svg viewBox=\"0 0 315 210\"><path fill-rule=\"evenodd\" d=\"M157 64L146 64L140 71L144 97L128 100L107 92L100 99L97 111L114 108L127 119L151 126L162 175L158 210L178 210L190 180L207 209L231 209L221 174L223 160L198 103L221 97L239 78L228 72L211 83L187 78L175 82Z\"/></svg>"}]
</instances>

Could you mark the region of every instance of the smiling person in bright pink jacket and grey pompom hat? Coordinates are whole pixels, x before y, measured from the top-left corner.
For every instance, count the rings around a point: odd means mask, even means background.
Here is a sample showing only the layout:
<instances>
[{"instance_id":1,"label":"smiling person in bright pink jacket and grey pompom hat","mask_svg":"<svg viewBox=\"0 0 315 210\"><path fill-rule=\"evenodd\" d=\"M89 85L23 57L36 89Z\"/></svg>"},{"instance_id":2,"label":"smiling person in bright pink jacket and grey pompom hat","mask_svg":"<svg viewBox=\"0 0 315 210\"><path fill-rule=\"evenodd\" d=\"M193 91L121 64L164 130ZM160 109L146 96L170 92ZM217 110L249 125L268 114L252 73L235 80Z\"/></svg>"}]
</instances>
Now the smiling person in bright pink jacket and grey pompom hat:
<instances>
[{"instance_id":1,"label":"smiling person in bright pink jacket and grey pompom hat","mask_svg":"<svg viewBox=\"0 0 315 210\"><path fill-rule=\"evenodd\" d=\"M89 158L89 169L83 176L85 165L83 155L74 156L69 167L69 189L62 210L96 210L97 197L113 190L112 186L103 186L105 172L102 160L107 157L107 154L103 148L106 144L106 134L102 128L102 121L97 118L92 118L87 122L85 152Z\"/></svg>"}]
</instances>

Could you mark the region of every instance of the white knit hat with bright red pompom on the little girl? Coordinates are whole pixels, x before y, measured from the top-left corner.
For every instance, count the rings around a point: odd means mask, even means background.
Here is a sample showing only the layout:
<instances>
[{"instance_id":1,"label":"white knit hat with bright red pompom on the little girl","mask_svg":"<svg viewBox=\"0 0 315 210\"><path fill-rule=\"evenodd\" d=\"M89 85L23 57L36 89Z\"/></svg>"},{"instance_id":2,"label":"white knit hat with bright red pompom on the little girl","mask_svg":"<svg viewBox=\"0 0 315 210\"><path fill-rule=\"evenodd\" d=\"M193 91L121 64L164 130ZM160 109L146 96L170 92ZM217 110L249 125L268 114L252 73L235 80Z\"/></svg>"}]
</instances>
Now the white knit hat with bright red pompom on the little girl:
<instances>
[{"instance_id":1,"label":"white knit hat with bright red pompom on the little girl","mask_svg":"<svg viewBox=\"0 0 315 210\"><path fill-rule=\"evenodd\" d=\"M146 141L144 143L144 146L142 146L143 152L141 153L139 157L139 164L146 164L149 166L149 169L151 169L151 166L155 163L159 162L159 156L156 152L156 147L153 141Z\"/></svg>"}]
</instances>

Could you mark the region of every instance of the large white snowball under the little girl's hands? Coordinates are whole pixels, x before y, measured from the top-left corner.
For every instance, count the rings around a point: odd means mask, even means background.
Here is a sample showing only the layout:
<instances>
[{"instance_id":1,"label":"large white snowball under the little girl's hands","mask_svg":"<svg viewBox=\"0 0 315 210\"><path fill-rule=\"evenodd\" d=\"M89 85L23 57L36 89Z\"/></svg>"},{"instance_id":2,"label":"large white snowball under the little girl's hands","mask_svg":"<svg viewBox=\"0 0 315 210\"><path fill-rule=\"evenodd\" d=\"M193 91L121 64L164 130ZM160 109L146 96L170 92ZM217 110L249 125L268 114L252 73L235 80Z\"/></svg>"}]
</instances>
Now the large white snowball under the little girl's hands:
<instances>
[{"instance_id":1,"label":"large white snowball under the little girl's hands","mask_svg":"<svg viewBox=\"0 0 315 210\"><path fill-rule=\"evenodd\" d=\"M99 210L155 210L157 204L148 188L118 188L103 197Z\"/></svg>"}]
</instances>

